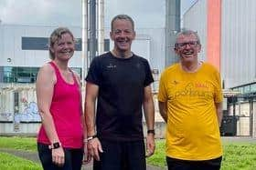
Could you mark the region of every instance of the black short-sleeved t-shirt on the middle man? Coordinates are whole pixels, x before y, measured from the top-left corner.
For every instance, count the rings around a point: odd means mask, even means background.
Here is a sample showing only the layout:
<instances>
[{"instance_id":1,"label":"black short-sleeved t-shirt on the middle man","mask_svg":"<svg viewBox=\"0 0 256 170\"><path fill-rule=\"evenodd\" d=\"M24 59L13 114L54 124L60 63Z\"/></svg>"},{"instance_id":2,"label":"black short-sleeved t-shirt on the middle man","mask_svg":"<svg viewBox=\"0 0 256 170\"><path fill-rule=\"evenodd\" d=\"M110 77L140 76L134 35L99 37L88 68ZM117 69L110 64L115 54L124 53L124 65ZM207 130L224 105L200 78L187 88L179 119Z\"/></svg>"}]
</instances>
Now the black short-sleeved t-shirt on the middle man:
<instances>
[{"instance_id":1,"label":"black short-sleeved t-shirt on the middle man","mask_svg":"<svg viewBox=\"0 0 256 170\"><path fill-rule=\"evenodd\" d=\"M95 57L86 81L99 86L97 135L117 141L142 140L144 87L154 82L143 57L117 58L112 53Z\"/></svg>"}]
</instances>

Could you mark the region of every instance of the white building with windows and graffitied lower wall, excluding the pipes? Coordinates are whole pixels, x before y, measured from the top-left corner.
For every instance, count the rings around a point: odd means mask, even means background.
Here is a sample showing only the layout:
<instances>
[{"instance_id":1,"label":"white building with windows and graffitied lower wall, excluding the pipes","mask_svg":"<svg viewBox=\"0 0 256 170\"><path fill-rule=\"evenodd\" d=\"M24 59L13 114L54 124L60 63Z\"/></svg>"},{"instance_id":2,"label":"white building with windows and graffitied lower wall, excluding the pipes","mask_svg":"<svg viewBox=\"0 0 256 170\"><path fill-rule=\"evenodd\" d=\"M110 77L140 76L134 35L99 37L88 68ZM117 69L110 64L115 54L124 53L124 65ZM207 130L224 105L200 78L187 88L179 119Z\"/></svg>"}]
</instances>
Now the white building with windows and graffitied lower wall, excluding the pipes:
<instances>
[{"instance_id":1,"label":"white building with windows and graffitied lower wall, excluding the pipes","mask_svg":"<svg viewBox=\"0 0 256 170\"><path fill-rule=\"evenodd\" d=\"M40 125L35 81L37 71L49 59L48 36L57 26L0 25L0 135L35 134ZM81 28L70 26L76 51L69 66L82 77ZM110 28L105 28L104 51L112 49ZM165 68L165 28L136 28L132 51L146 58L157 79ZM86 69L90 65L85 62Z\"/></svg>"}]
</instances>

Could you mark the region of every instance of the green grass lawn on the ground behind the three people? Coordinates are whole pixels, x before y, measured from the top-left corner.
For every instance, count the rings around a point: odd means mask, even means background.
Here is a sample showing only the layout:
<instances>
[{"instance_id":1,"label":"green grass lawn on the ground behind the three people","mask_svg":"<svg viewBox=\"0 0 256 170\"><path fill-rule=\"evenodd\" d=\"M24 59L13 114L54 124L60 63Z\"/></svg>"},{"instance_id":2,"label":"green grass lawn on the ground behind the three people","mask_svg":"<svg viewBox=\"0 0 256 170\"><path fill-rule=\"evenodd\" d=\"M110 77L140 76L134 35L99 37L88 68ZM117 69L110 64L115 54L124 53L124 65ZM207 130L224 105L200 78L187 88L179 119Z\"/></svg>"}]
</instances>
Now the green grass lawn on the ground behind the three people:
<instances>
[{"instance_id":1,"label":"green grass lawn on the ground behind the three people","mask_svg":"<svg viewBox=\"0 0 256 170\"><path fill-rule=\"evenodd\" d=\"M0 137L0 148L37 152L37 141L33 137ZM224 142L223 148L221 170L256 170L256 143ZM155 155L147 158L147 164L165 166L165 140L156 140ZM36 163L0 153L0 169L21 170L23 167L40 169L40 165Z\"/></svg>"}]
</instances>

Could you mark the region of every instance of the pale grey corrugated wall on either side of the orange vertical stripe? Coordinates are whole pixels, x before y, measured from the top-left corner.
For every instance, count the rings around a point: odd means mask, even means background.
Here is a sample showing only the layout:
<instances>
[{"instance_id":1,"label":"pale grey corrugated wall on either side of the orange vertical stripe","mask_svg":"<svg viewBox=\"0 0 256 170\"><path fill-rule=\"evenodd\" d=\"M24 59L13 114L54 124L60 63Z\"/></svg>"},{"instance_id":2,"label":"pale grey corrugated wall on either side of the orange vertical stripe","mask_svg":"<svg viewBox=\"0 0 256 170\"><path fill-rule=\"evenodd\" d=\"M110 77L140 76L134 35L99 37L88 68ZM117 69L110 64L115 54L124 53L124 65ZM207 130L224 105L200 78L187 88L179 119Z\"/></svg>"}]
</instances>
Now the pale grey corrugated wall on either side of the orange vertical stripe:
<instances>
[{"instance_id":1,"label":"pale grey corrugated wall on either side of the orange vertical stripe","mask_svg":"<svg viewBox=\"0 0 256 170\"><path fill-rule=\"evenodd\" d=\"M203 60L207 58L207 3L197 0L183 16L184 27L196 30L201 38ZM256 80L255 9L255 0L221 1L220 71L225 88Z\"/></svg>"}]
</instances>

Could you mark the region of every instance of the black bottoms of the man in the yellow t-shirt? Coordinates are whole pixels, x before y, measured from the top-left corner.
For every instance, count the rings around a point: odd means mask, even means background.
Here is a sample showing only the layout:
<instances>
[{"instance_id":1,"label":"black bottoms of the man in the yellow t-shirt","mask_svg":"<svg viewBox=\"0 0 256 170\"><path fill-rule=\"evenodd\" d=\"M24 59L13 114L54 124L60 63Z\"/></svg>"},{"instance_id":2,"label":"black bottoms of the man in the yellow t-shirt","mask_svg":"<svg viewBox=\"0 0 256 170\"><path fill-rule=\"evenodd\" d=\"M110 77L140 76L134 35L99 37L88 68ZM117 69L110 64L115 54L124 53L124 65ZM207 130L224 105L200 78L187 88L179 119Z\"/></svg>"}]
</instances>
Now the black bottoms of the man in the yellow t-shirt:
<instances>
[{"instance_id":1,"label":"black bottoms of the man in the yellow t-shirt","mask_svg":"<svg viewBox=\"0 0 256 170\"><path fill-rule=\"evenodd\" d=\"M166 157L168 170L219 170L222 156L204 161L189 161Z\"/></svg>"}]
</instances>

